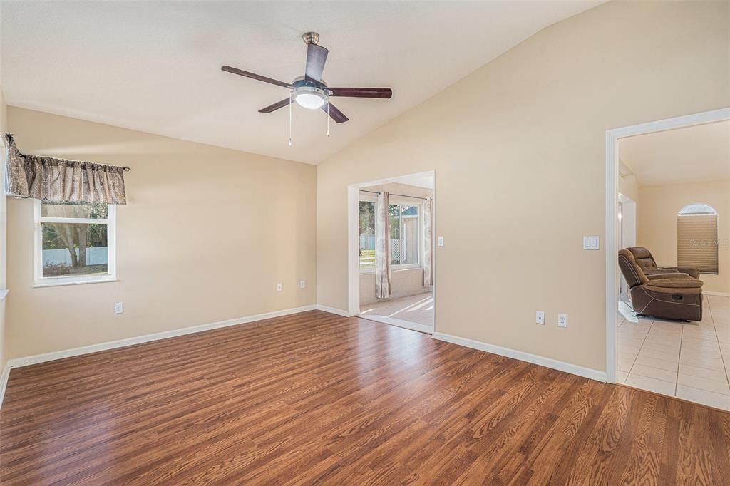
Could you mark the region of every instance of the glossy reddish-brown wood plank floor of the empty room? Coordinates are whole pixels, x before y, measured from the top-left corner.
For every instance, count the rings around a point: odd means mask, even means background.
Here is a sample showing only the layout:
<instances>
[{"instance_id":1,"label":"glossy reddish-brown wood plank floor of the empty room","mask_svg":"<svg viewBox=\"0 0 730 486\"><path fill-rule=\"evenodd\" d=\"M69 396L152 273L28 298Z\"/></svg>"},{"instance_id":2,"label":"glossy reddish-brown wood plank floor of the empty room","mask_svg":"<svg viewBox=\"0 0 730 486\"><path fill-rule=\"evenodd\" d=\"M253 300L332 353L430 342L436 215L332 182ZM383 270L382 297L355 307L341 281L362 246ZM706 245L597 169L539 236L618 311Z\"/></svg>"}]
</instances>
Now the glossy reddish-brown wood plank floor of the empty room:
<instances>
[{"instance_id":1,"label":"glossy reddish-brown wood plank floor of the empty room","mask_svg":"<svg viewBox=\"0 0 730 486\"><path fill-rule=\"evenodd\" d=\"M730 414L312 311L12 370L0 468L2 485L721 485Z\"/></svg>"}]
</instances>

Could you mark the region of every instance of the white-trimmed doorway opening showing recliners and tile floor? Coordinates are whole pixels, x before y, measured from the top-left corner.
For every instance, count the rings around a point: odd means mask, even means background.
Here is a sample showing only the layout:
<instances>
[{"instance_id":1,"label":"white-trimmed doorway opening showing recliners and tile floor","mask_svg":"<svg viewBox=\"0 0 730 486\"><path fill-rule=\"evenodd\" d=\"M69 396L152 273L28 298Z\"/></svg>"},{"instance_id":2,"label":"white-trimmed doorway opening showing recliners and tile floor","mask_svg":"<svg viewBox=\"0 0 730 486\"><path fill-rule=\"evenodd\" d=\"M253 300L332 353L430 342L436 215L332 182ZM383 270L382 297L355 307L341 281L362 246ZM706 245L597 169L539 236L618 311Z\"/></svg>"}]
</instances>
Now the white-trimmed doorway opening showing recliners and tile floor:
<instances>
[{"instance_id":1,"label":"white-trimmed doorway opening showing recliners and tile floor","mask_svg":"<svg viewBox=\"0 0 730 486\"><path fill-rule=\"evenodd\" d=\"M606 140L607 380L730 410L730 109Z\"/></svg>"}]
</instances>

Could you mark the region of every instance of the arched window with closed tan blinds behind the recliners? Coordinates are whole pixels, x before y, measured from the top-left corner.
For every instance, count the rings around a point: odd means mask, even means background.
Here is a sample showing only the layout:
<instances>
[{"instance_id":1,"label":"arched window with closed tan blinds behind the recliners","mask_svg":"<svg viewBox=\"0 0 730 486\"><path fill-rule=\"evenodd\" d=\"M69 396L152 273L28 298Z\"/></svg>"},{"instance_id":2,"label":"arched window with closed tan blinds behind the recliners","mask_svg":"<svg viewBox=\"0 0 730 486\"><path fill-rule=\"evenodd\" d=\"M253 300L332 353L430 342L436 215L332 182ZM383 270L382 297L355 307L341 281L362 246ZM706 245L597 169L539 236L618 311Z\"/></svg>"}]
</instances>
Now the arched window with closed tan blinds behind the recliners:
<instances>
[{"instance_id":1,"label":"arched window with closed tan blinds behind the recliners","mask_svg":"<svg viewBox=\"0 0 730 486\"><path fill-rule=\"evenodd\" d=\"M677 266L718 274L718 212L689 204L677 214Z\"/></svg>"}]
</instances>

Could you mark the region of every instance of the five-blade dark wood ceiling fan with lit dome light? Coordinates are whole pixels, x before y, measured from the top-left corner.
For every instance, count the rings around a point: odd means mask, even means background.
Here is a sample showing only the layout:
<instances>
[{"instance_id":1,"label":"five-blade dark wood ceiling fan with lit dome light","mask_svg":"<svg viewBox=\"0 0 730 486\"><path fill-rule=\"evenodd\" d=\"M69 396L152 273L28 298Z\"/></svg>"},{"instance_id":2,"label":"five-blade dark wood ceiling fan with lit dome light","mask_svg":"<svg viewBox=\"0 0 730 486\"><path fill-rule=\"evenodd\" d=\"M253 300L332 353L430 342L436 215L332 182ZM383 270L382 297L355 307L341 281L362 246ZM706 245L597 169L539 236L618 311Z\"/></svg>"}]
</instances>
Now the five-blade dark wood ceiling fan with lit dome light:
<instances>
[{"instance_id":1,"label":"five-blade dark wood ceiling fan with lit dome light","mask_svg":"<svg viewBox=\"0 0 730 486\"><path fill-rule=\"evenodd\" d=\"M304 68L304 76L295 78L291 83L272 80L270 77L243 71L242 69L231 66L222 66L220 69L223 69L225 72L239 74L240 76L250 77L253 80L268 82L269 84L291 90L288 98L270 104L266 108L259 109L258 112L260 113L271 113L277 109L290 106L292 102L296 102L301 107L308 109L321 108L327 112L332 120L337 123L344 123L349 118L330 103L330 97L347 96L352 98L389 99L393 96L391 88L330 88L322 80L324 63L327 60L327 53L329 51L325 47L318 45L319 34L316 32L307 32L301 36L301 39L307 45L307 65Z\"/></svg>"}]
</instances>

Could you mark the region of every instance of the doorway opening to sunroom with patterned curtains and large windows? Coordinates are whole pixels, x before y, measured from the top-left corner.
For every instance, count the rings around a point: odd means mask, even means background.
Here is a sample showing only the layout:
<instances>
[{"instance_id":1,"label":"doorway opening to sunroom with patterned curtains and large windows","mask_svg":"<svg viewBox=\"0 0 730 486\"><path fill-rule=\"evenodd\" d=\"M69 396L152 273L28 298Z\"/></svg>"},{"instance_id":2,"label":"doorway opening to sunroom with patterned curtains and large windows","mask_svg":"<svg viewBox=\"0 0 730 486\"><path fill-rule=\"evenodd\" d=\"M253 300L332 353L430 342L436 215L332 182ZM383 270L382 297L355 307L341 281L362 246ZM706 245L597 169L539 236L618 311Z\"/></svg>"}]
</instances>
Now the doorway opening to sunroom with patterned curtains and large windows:
<instances>
[{"instance_id":1,"label":"doorway opening to sunroom with patterned curtains and large windows","mask_svg":"<svg viewBox=\"0 0 730 486\"><path fill-rule=\"evenodd\" d=\"M434 172L348 187L349 312L434 332Z\"/></svg>"}]
</instances>

